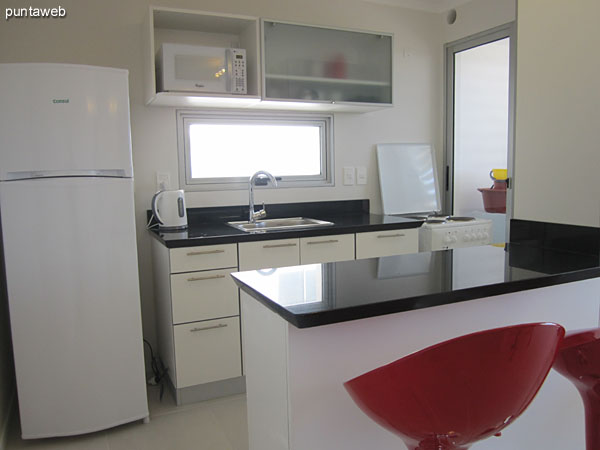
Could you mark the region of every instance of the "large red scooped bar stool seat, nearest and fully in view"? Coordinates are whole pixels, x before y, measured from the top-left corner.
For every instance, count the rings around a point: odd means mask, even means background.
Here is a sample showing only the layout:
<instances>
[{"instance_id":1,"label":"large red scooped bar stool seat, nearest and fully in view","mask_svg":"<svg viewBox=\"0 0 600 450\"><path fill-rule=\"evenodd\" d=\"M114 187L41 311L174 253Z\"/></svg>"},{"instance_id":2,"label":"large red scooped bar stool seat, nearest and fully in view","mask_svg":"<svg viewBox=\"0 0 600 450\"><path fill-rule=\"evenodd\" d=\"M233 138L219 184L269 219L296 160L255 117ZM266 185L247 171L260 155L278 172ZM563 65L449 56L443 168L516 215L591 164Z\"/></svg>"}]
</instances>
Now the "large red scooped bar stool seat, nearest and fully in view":
<instances>
[{"instance_id":1,"label":"large red scooped bar stool seat, nearest and fully in view","mask_svg":"<svg viewBox=\"0 0 600 450\"><path fill-rule=\"evenodd\" d=\"M514 421L552 367L563 327L533 323L451 339L344 383L409 450L466 450Z\"/></svg>"}]
</instances>

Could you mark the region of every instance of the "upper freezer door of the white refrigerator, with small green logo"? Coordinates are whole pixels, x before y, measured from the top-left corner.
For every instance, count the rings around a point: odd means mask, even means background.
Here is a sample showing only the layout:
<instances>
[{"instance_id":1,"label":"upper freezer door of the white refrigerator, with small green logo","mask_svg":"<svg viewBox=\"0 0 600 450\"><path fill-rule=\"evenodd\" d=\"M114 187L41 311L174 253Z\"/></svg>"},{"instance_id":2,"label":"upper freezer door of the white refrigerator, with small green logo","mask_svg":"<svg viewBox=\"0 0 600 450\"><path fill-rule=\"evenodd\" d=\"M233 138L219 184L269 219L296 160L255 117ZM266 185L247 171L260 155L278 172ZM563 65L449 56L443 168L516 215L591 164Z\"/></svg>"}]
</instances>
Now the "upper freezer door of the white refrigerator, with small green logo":
<instances>
[{"instance_id":1,"label":"upper freezer door of the white refrigerator, with small green logo","mask_svg":"<svg viewBox=\"0 0 600 450\"><path fill-rule=\"evenodd\" d=\"M127 71L0 64L0 180L21 172L132 176Z\"/></svg>"}]
</instances>

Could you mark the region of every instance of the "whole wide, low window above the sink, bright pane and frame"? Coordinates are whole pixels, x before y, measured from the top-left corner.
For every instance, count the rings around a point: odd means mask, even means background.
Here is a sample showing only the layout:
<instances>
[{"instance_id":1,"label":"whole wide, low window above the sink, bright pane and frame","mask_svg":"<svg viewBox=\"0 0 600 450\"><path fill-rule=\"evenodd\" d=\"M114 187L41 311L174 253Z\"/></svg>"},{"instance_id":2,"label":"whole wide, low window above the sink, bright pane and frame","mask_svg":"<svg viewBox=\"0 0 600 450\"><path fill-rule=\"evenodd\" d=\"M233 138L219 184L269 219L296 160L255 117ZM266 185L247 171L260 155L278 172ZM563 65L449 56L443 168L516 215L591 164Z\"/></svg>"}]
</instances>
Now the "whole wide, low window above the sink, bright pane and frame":
<instances>
[{"instance_id":1,"label":"whole wide, low window above the sink, bright pane and frame","mask_svg":"<svg viewBox=\"0 0 600 450\"><path fill-rule=\"evenodd\" d=\"M333 185L332 123L330 115L178 111L181 185L246 189L258 170L281 187Z\"/></svg>"}]
</instances>

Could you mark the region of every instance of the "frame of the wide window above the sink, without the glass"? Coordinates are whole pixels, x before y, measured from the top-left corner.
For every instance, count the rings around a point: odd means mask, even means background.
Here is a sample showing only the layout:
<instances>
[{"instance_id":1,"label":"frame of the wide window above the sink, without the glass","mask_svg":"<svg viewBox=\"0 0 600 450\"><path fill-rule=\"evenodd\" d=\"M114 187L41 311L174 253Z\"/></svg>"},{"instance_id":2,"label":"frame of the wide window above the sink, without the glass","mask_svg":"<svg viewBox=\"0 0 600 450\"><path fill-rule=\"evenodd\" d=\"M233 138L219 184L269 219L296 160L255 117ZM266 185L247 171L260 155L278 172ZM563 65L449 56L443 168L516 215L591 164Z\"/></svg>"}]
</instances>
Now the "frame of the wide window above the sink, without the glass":
<instances>
[{"instance_id":1,"label":"frame of the wide window above the sink, without the glass","mask_svg":"<svg viewBox=\"0 0 600 450\"><path fill-rule=\"evenodd\" d=\"M282 176L278 187L324 187L334 185L333 115L254 113L241 111L177 110L177 147L179 154L179 185L187 191L220 191L248 189L248 177L192 178L190 164L189 127L196 123L226 124L314 124L321 128L321 173L314 176Z\"/></svg>"}]
</instances>

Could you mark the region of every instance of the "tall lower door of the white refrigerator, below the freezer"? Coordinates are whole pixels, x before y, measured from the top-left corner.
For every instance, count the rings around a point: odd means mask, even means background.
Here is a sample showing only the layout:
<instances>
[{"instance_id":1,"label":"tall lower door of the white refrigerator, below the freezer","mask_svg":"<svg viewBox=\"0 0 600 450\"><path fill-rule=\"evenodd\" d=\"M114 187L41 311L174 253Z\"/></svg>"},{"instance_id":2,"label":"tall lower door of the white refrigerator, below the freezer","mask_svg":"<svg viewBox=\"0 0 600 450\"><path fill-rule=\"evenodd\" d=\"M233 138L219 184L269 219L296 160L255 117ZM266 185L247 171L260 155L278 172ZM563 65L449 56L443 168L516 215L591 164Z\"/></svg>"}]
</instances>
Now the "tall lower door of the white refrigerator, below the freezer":
<instances>
[{"instance_id":1,"label":"tall lower door of the white refrigerator, below the freezer","mask_svg":"<svg viewBox=\"0 0 600 450\"><path fill-rule=\"evenodd\" d=\"M147 416L131 179L0 183L23 437Z\"/></svg>"}]
</instances>

